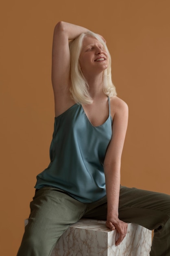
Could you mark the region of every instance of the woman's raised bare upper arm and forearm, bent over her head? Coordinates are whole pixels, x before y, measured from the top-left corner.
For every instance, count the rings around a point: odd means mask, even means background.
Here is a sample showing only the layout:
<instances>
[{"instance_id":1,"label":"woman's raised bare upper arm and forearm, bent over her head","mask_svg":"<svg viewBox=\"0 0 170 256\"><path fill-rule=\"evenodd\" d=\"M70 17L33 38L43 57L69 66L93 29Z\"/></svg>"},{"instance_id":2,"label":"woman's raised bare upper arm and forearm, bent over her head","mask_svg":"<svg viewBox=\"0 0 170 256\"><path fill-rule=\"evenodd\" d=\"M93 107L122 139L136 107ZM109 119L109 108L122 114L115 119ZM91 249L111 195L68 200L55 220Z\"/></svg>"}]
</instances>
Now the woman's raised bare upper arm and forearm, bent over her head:
<instances>
[{"instance_id":1,"label":"woman's raised bare upper arm and forearm, bent over her head","mask_svg":"<svg viewBox=\"0 0 170 256\"><path fill-rule=\"evenodd\" d=\"M69 40L88 31L68 22L60 21L54 28L52 43L52 87L54 90L55 114L61 114L68 102L70 92L70 50Z\"/></svg>"}]
</instances>

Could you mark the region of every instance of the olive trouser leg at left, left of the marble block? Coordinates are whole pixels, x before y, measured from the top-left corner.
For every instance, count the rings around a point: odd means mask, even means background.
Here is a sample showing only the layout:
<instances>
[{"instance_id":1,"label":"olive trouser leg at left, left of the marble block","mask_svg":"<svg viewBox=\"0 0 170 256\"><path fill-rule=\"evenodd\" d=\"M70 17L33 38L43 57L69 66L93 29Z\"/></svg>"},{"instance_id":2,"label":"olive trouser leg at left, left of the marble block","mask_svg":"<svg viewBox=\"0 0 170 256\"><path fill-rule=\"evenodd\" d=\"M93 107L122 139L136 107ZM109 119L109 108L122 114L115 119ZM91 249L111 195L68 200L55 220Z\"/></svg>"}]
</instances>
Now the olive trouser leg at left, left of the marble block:
<instances>
[{"instance_id":1,"label":"olive trouser leg at left, left of the marble block","mask_svg":"<svg viewBox=\"0 0 170 256\"><path fill-rule=\"evenodd\" d=\"M49 256L63 232L83 216L86 204L55 188L44 187L36 192L30 208L17 256Z\"/></svg>"}]
</instances>

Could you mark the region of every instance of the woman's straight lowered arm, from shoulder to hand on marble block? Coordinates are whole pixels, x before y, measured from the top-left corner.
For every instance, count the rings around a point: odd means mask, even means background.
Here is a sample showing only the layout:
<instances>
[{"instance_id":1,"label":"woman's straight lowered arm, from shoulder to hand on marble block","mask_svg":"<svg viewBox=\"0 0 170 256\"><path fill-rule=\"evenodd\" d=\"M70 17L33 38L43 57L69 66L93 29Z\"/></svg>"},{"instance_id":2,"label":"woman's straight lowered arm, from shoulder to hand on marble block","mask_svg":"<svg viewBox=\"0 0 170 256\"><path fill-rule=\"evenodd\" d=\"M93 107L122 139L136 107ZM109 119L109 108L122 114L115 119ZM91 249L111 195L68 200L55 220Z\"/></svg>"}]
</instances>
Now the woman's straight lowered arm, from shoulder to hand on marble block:
<instances>
[{"instance_id":1,"label":"woman's straight lowered arm, from shoulder to hand on marble block","mask_svg":"<svg viewBox=\"0 0 170 256\"><path fill-rule=\"evenodd\" d=\"M116 245L119 245L126 235L127 224L118 218L118 205L120 194L120 164L121 155L128 123L128 106L118 97L111 99L113 109L113 133L107 149L104 170L107 193L107 222L106 226L111 230L117 229L119 238Z\"/></svg>"}]
</instances>

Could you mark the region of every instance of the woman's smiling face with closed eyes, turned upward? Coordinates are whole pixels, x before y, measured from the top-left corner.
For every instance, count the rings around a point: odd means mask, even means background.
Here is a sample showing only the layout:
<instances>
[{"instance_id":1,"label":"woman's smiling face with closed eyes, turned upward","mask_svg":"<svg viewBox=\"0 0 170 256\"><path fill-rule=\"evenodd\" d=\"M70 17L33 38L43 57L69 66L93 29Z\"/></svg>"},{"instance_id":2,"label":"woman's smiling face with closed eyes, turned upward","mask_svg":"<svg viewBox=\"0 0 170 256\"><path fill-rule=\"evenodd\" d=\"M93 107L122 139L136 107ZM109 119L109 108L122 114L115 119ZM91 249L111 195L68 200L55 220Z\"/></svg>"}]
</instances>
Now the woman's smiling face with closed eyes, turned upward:
<instances>
[{"instance_id":1,"label":"woman's smiling face with closed eyes, turned upward","mask_svg":"<svg viewBox=\"0 0 170 256\"><path fill-rule=\"evenodd\" d=\"M83 74L103 72L108 66L108 55L102 43L96 38L85 36L79 63Z\"/></svg>"}]
</instances>

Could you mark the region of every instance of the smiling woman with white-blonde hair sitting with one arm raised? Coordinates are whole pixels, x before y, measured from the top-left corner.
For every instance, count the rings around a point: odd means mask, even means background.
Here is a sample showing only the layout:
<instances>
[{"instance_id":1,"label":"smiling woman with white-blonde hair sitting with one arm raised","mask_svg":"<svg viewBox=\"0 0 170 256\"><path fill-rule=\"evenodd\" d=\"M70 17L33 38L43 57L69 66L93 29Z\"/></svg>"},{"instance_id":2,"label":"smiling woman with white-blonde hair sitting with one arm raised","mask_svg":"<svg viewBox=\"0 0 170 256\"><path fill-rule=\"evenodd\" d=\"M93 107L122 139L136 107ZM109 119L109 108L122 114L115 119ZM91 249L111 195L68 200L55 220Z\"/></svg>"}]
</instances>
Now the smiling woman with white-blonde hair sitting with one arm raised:
<instances>
[{"instance_id":1,"label":"smiling woman with white-blonde hair sitting with one arm raised","mask_svg":"<svg viewBox=\"0 0 170 256\"><path fill-rule=\"evenodd\" d=\"M72 40L69 45L69 40ZM18 256L48 256L70 224L106 220L126 236L126 222L155 229L150 255L170 255L170 197L120 186L128 107L111 82L105 40L59 22L52 46L55 122L50 164L36 193Z\"/></svg>"}]
</instances>

